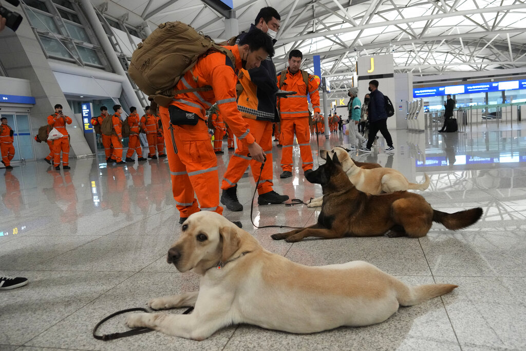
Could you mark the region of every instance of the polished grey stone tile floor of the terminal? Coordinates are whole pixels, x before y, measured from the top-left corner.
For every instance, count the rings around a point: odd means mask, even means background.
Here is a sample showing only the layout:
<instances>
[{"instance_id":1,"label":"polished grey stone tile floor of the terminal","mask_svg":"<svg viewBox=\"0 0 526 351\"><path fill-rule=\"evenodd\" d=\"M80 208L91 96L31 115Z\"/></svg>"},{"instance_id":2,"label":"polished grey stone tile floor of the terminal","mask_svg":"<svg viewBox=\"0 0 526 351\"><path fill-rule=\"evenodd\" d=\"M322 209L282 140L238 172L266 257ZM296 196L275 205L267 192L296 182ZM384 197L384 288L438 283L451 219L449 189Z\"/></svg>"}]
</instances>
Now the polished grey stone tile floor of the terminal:
<instances>
[{"instance_id":1,"label":"polished grey stone tile floor of the terminal","mask_svg":"<svg viewBox=\"0 0 526 351\"><path fill-rule=\"evenodd\" d=\"M275 242L250 223L254 180L242 178L241 220L271 252L306 265L366 260L409 284L458 284L443 297L402 307L386 322L294 335L249 325L219 330L203 342L157 332L112 342L92 337L98 320L117 310L145 307L152 297L195 290L198 279L166 263L179 235L179 215L170 194L164 160L106 166L97 159L75 159L69 172L55 172L43 161L11 172L0 169L0 270L25 276L29 284L0 291L0 350L524 350L526 349L526 131L524 125L488 124L465 133L392 131L395 153L385 142L358 161L398 169L411 181L424 172L431 185L420 192L447 212L480 206L473 226L452 232L434 224L429 234L409 238L344 238ZM526 133L525 133L526 134ZM316 137L311 139L318 159ZM347 137L319 140L321 147L348 145ZM276 144L276 143L275 143ZM226 150L226 145L224 145ZM380 151L378 151L378 149ZM231 152L230 152L231 153ZM274 147L274 159L281 149ZM294 176L279 179L275 190L308 200L321 194L308 183L294 146ZM218 157L220 175L229 155ZM254 223L305 226L319 210L304 205L254 205ZM265 296L261 296L265 298ZM285 298L285 297L284 297ZM171 313L181 313L173 310ZM309 318L309 316L306 316ZM126 330L124 317L102 333Z\"/></svg>"}]
</instances>

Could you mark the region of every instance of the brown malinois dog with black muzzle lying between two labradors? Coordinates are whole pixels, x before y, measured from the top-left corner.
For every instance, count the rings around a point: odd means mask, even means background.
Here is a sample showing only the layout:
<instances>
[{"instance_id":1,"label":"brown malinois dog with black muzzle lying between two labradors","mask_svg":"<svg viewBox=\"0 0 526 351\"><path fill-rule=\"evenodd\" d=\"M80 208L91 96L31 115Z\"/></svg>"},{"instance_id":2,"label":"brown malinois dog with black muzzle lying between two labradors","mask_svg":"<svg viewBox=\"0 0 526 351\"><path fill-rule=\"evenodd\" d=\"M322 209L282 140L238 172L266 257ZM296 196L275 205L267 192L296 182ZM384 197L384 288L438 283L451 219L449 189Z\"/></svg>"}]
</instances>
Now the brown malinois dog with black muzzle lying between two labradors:
<instances>
[{"instance_id":1,"label":"brown malinois dog with black muzzle lying between two labradors","mask_svg":"<svg viewBox=\"0 0 526 351\"><path fill-rule=\"evenodd\" d=\"M306 175L309 182L321 184L323 205L318 223L310 227L274 234L272 239L289 243L316 236L342 238L344 236L408 236L426 235L432 222L457 230L468 227L482 216L482 208L471 208L456 213L433 209L422 196L408 192L371 195L360 192L341 167L338 156L327 157L325 165Z\"/></svg>"}]
</instances>

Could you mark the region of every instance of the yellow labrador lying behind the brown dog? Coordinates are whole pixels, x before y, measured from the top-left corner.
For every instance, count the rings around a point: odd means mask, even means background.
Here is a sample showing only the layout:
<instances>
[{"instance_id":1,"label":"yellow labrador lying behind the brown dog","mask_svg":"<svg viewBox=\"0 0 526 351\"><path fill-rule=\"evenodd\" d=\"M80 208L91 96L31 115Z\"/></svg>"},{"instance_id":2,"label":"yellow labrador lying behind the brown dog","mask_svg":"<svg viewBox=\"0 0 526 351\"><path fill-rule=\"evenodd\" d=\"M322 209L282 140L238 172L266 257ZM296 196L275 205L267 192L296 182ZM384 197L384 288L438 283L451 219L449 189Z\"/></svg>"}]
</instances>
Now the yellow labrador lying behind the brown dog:
<instances>
[{"instance_id":1,"label":"yellow labrador lying behind the brown dog","mask_svg":"<svg viewBox=\"0 0 526 351\"><path fill-rule=\"evenodd\" d=\"M381 193L394 193L403 190L426 190L429 187L430 179L427 174L424 174L426 180L422 184L409 183L403 174L396 169L379 167L372 169L360 168L352 161L352 158L347 153L346 149L342 147L335 147L332 150L320 150L320 156L327 159L327 154L332 157L334 154L338 155L343 171L347 173L351 183L356 186L358 190L371 195L378 195ZM307 207L320 207L323 203L323 196L312 199Z\"/></svg>"}]
</instances>

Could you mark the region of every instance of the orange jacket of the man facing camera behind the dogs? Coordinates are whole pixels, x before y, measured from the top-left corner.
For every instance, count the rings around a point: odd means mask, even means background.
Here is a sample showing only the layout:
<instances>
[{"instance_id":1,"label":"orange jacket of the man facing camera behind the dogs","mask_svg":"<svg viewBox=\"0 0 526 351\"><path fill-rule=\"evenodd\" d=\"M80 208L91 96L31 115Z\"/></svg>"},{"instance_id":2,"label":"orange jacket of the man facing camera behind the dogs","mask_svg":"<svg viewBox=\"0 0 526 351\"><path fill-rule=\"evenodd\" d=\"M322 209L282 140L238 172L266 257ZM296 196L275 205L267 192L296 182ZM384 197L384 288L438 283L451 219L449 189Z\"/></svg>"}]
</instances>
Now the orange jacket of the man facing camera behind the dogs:
<instances>
[{"instance_id":1,"label":"orange jacket of the man facing camera behind the dogs","mask_svg":"<svg viewBox=\"0 0 526 351\"><path fill-rule=\"evenodd\" d=\"M280 76L281 73L278 74L278 87ZM283 86L281 86L281 89L296 92L296 95L288 95L286 99L283 97L278 98L280 117L282 119L308 117L309 103L307 94L310 95L310 102L312 103L314 112L319 113L321 111L320 94L318 93L319 85L320 82L317 77L309 74L309 86L305 86L301 70L298 70L295 74L291 74L287 69L285 82Z\"/></svg>"}]
</instances>

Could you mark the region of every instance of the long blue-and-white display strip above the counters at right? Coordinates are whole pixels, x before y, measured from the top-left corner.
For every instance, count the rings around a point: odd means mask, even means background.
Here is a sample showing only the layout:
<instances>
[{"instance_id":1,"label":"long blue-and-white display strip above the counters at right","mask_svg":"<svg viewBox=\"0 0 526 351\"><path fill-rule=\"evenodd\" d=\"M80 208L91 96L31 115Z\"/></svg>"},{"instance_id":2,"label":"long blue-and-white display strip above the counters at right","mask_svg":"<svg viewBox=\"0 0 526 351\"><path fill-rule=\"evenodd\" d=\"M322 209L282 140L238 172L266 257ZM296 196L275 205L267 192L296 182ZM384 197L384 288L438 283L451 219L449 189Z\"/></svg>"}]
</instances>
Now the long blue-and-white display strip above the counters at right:
<instances>
[{"instance_id":1,"label":"long blue-and-white display strip above the counters at right","mask_svg":"<svg viewBox=\"0 0 526 351\"><path fill-rule=\"evenodd\" d=\"M465 85L432 86L413 89L413 97L443 96L469 93L499 92L503 90L526 89L526 79L521 81L488 82Z\"/></svg>"}]
</instances>

